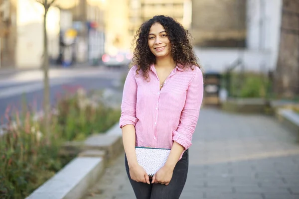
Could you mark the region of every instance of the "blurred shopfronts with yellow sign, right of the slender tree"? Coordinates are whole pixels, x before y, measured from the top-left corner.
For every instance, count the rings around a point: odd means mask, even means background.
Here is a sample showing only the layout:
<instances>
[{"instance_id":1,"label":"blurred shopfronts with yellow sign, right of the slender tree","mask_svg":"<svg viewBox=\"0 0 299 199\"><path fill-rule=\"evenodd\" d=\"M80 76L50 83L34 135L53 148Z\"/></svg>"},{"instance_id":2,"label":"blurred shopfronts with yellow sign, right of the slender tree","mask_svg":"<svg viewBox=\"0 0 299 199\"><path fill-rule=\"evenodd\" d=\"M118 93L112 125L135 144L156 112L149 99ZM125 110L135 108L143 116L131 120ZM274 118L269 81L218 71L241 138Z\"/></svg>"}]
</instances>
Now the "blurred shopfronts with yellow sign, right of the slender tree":
<instances>
[{"instance_id":1,"label":"blurred shopfronts with yellow sign, right of the slender tree","mask_svg":"<svg viewBox=\"0 0 299 199\"><path fill-rule=\"evenodd\" d=\"M101 2L76 0L61 10L58 64L98 63L105 52L105 7Z\"/></svg>"}]
</instances>

